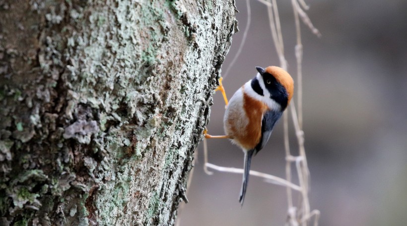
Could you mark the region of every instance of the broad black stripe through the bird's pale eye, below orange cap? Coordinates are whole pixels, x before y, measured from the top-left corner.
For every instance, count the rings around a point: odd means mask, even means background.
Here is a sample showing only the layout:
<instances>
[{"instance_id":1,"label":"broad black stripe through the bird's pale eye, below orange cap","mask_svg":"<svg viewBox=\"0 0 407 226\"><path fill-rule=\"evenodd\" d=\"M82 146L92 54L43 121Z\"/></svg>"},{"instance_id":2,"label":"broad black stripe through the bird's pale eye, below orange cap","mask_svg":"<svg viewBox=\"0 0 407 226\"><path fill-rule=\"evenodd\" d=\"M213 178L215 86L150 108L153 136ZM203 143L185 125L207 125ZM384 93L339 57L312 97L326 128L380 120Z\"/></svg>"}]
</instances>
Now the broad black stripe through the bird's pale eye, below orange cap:
<instances>
[{"instance_id":1,"label":"broad black stripe through the bird's pale eye, below orange cap","mask_svg":"<svg viewBox=\"0 0 407 226\"><path fill-rule=\"evenodd\" d=\"M267 83L268 80L270 80L270 84ZM263 74L263 81L270 93L270 98L281 106L281 110L284 110L288 105L288 94L284 86L277 82L274 76L269 73Z\"/></svg>"}]
</instances>

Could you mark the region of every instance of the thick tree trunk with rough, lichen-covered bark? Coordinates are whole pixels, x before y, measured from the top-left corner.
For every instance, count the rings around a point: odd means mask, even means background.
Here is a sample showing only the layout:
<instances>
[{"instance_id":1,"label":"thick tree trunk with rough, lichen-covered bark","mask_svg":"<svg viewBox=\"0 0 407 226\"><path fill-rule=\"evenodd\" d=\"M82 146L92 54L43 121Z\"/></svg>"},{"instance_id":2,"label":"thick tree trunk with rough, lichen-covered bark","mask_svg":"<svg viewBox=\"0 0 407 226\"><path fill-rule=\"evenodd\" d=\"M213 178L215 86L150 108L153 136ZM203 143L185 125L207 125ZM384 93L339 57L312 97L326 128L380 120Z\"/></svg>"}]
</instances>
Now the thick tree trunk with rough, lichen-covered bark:
<instances>
[{"instance_id":1,"label":"thick tree trunk with rough, lichen-covered bark","mask_svg":"<svg viewBox=\"0 0 407 226\"><path fill-rule=\"evenodd\" d=\"M234 0L0 0L0 225L172 225Z\"/></svg>"}]
</instances>

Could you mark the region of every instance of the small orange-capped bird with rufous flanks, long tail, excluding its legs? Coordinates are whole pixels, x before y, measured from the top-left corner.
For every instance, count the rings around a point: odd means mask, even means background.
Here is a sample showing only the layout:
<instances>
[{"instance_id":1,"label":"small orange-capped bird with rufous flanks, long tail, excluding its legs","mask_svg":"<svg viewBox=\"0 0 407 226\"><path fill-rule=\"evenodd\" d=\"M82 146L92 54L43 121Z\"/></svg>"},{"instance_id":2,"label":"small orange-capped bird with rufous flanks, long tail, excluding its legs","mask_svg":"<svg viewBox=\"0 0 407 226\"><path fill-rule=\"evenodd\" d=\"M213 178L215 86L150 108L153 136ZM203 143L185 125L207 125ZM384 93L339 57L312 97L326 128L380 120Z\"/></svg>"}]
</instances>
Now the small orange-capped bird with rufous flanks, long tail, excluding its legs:
<instances>
[{"instance_id":1,"label":"small orange-capped bird with rufous flanks, long tail, excluding its legs","mask_svg":"<svg viewBox=\"0 0 407 226\"><path fill-rule=\"evenodd\" d=\"M241 205L249 182L252 157L269 140L275 123L290 103L294 91L291 76L282 68L269 66L256 69L259 73L236 91L223 117L225 137L245 153L239 197Z\"/></svg>"}]
</instances>

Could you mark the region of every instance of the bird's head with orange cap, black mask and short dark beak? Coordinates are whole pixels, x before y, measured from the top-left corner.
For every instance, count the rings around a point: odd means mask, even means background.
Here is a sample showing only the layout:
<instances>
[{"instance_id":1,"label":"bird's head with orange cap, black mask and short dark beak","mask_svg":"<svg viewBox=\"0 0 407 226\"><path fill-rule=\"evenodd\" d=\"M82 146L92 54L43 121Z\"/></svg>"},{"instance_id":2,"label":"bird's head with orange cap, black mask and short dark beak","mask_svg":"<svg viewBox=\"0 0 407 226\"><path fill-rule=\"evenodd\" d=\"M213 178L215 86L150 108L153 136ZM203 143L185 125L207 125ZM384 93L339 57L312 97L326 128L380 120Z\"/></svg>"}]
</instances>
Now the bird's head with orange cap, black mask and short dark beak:
<instances>
[{"instance_id":1,"label":"bird's head with orange cap, black mask and short dark beak","mask_svg":"<svg viewBox=\"0 0 407 226\"><path fill-rule=\"evenodd\" d=\"M291 101L294 93L294 81L288 72L277 66L268 66L266 68L256 67L259 72L256 78L259 82L257 93L267 97L281 106L284 110Z\"/></svg>"}]
</instances>

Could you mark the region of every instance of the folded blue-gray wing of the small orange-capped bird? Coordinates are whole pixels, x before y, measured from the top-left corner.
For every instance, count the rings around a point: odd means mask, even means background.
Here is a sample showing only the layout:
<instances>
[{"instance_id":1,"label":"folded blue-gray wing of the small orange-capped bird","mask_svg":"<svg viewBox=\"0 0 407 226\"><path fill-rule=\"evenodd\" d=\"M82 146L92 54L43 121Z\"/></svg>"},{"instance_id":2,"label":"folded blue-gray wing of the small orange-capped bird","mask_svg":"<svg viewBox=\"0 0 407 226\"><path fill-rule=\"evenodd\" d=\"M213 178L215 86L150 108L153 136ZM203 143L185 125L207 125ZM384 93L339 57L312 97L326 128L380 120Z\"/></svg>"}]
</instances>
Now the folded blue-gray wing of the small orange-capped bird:
<instances>
[{"instance_id":1,"label":"folded blue-gray wing of the small orange-capped bird","mask_svg":"<svg viewBox=\"0 0 407 226\"><path fill-rule=\"evenodd\" d=\"M256 145L255 155L262 150L264 145L269 141L271 132L274 128L275 123L280 119L282 112L268 111L263 115L262 120L262 138L260 142Z\"/></svg>"}]
</instances>

